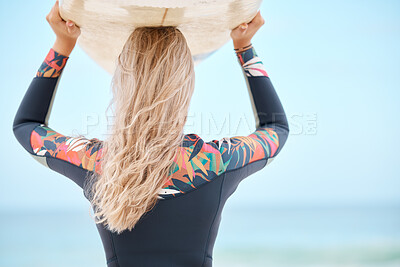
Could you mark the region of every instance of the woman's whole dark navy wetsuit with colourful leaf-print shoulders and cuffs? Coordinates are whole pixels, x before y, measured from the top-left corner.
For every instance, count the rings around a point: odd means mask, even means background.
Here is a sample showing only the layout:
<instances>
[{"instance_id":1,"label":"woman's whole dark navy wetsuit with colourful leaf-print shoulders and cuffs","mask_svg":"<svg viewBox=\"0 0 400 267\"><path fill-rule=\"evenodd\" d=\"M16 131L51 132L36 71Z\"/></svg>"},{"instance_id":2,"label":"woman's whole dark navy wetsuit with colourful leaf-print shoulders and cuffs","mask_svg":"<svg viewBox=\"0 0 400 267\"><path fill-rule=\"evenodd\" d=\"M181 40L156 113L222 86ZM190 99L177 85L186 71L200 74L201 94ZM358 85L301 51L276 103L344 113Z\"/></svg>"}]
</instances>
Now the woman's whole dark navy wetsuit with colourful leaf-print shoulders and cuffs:
<instances>
[{"instance_id":1,"label":"woman's whole dark navy wetsuit with colourful leaf-print shoulders and cuffs","mask_svg":"<svg viewBox=\"0 0 400 267\"><path fill-rule=\"evenodd\" d=\"M209 142L196 134L185 135L158 203L134 229L118 235L97 224L107 266L212 266L226 200L244 178L278 155L289 133L283 107L254 48L237 58L253 106L255 131ZM101 170L102 143L62 135L47 124L67 60L50 49L22 100L13 130L36 160L84 188L87 174Z\"/></svg>"}]
</instances>

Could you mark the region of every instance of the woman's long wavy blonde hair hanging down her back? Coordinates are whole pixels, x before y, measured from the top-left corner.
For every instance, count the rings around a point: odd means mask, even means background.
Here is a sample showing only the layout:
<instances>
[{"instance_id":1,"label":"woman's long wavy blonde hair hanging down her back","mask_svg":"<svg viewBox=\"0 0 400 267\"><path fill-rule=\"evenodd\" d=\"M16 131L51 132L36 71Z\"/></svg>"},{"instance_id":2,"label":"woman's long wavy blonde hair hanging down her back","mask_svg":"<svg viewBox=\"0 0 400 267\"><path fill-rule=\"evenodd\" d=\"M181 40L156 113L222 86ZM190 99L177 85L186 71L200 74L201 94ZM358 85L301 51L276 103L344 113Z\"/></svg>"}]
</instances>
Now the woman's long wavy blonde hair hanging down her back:
<instances>
[{"instance_id":1,"label":"woman's long wavy blonde hair hanging down her back","mask_svg":"<svg viewBox=\"0 0 400 267\"><path fill-rule=\"evenodd\" d=\"M183 141L194 90L192 54L173 26L136 28L112 79L114 124L88 183L96 223L132 230L158 201Z\"/></svg>"}]
</instances>

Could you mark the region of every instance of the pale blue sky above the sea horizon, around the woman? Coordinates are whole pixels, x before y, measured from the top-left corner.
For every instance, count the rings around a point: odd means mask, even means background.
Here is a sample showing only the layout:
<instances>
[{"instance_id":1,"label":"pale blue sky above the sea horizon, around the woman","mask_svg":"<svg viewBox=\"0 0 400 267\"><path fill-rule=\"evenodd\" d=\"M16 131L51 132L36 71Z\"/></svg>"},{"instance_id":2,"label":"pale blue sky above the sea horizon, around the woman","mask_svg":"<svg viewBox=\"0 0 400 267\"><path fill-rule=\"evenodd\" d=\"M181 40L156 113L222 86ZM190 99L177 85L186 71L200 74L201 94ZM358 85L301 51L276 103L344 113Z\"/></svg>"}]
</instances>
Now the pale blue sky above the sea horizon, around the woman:
<instances>
[{"instance_id":1,"label":"pale blue sky above the sea horizon, around the woman","mask_svg":"<svg viewBox=\"0 0 400 267\"><path fill-rule=\"evenodd\" d=\"M88 208L79 187L32 159L12 133L18 105L55 40L45 20L52 4L0 3L4 209ZM244 180L228 205L400 204L400 2L264 1L261 14L266 23L253 44L291 134L279 157ZM50 127L104 138L110 81L77 46ZM245 86L228 42L196 67L187 133L208 141L253 131Z\"/></svg>"}]
</instances>

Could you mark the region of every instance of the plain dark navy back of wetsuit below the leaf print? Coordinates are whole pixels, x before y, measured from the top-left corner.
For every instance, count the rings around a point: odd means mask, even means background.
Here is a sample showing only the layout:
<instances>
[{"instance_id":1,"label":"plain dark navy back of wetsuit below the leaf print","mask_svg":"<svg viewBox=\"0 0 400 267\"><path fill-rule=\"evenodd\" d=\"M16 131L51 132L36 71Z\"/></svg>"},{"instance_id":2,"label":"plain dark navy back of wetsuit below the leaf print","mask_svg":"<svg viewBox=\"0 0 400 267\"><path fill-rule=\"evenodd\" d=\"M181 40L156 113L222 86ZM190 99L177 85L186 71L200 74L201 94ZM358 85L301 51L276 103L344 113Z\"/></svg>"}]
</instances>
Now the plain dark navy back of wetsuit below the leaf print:
<instances>
[{"instance_id":1,"label":"plain dark navy back of wetsuit below the leaf print","mask_svg":"<svg viewBox=\"0 0 400 267\"><path fill-rule=\"evenodd\" d=\"M212 266L225 201L241 179L264 164L251 163L190 193L159 201L132 231L118 235L98 225L108 266Z\"/></svg>"}]
</instances>

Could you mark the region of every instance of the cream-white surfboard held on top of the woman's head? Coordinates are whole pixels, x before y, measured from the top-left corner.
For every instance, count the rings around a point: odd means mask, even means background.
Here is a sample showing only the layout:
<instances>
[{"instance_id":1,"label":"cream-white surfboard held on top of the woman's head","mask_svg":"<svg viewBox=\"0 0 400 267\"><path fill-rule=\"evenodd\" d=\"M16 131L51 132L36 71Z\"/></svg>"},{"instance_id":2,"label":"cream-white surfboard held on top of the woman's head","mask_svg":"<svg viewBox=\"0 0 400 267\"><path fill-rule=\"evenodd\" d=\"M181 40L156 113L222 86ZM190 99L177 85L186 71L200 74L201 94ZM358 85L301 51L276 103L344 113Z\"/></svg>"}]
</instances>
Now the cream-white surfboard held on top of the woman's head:
<instances>
[{"instance_id":1,"label":"cream-white surfboard held on top of the woman's head","mask_svg":"<svg viewBox=\"0 0 400 267\"><path fill-rule=\"evenodd\" d=\"M81 28L79 46L113 73L125 41L142 26L177 26L195 65L231 40L230 31L250 22L262 0L61 0L60 15Z\"/></svg>"}]
</instances>

